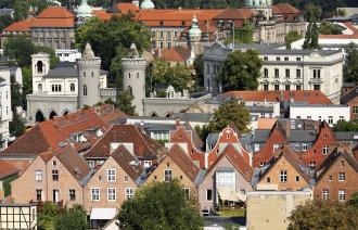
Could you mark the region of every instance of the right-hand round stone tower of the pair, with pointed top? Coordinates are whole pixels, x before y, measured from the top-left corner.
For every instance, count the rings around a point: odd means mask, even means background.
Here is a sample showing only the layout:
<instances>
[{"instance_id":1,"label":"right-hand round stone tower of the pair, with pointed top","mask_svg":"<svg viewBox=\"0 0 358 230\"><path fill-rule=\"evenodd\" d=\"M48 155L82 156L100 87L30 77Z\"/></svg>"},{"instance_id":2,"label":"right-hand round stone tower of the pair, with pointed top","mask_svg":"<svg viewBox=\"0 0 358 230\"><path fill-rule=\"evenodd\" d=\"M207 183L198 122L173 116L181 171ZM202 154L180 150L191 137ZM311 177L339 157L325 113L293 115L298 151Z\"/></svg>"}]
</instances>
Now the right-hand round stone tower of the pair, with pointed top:
<instances>
[{"instance_id":1,"label":"right-hand round stone tower of the pair, with pointed top","mask_svg":"<svg viewBox=\"0 0 358 230\"><path fill-rule=\"evenodd\" d=\"M133 97L132 105L139 116L144 115L146 61L140 58L135 43L130 46L128 58L122 59L123 90Z\"/></svg>"}]
</instances>

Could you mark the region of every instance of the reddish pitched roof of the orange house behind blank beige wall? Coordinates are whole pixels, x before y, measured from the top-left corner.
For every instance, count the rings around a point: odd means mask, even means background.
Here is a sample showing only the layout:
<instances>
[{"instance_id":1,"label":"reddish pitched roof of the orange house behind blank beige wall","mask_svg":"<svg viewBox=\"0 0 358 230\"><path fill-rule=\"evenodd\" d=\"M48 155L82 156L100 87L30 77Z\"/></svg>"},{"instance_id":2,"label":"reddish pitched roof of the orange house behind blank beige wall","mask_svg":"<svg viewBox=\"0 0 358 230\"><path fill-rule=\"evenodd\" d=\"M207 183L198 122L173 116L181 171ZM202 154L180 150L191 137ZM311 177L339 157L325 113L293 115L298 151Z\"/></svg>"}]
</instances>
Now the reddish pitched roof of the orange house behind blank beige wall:
<instances>
[{"instance_id":1,"label":"reddish pitched roof of the orange house behind blank beige wall","mask_svg":"<svg viewBox=\"0 0 358 230\"><path fill-rule=\"evenodd\" d=\"M274 155L270 159L269 167L265 170L265 173L260 176L259 181L267 175L272 168L274 168L276 164L279 162L281 157L284 157L299 174L304 177L304 179L310 183L310 170L297 156L290 145L283 144L282 148L274 152Z\"/></svg>"}]
</instances>

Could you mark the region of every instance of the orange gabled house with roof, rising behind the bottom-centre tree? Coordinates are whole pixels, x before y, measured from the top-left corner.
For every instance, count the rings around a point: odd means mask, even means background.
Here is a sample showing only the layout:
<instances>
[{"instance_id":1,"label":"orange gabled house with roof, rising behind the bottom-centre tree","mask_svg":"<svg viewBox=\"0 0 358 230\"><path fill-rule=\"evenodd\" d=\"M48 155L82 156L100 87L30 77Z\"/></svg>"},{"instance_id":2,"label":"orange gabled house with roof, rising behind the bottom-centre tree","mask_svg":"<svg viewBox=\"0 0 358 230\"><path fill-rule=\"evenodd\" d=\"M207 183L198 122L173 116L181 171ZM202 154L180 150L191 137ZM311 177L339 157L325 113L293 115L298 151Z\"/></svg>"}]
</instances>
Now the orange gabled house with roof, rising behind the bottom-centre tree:
<instances>
[{"instance_id":1,"label":"orange gabled house with roof, rising behind the bottom-centre tree","mask_svg":"<svg viewBox=\"0 0 358 230\"><path fill-rule=\"evenodd\" d=\"M174 144L157 167L148 176L145 184L178 179L186 194L197 195L197 181L203 171L179 144Z\"/></svg>"}]
</instances>

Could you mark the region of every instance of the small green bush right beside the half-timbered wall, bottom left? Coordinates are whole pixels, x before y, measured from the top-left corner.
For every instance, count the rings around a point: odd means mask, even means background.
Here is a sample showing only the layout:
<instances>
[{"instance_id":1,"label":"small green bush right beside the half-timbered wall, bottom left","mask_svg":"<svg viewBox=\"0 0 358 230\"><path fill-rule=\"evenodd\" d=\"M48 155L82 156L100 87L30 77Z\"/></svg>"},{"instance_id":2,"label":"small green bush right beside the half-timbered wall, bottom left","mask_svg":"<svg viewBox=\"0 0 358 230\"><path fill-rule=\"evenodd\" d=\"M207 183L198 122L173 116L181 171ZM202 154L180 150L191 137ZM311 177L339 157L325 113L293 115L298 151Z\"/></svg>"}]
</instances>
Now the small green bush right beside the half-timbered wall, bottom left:
<instances>
[{"instance_id":1,"label":"small green bush right beside the half-timbered wall, bottom left","mask_svg":"<svg viewBox=\"0 0 358 230\"><path fill-rule=\"evenodd\" d=\"M55 221L61 214L61 209L52 202L44 202L42 209L38 212L37 223L39 230L54 230Z\"/></svg>"}]
</instances>

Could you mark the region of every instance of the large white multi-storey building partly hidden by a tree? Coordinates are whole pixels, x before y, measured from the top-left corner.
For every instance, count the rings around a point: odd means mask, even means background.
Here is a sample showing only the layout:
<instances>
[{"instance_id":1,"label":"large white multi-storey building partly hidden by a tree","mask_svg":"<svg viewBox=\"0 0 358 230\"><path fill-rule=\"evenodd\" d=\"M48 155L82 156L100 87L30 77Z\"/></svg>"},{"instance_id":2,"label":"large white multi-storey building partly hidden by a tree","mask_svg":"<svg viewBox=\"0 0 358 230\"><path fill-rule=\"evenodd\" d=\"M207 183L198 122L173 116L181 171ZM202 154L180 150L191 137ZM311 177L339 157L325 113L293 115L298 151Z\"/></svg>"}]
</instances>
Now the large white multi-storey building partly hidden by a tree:
<instances>
[{"instance_id":1,"label":"large white multi-storey building partly hidden by a tree","mask_svg":"<svg viewBox=\"0 0 358 230\"><path fill-rule=\"evenodd\" d=\"M234 50L254 49L263 59L258 90L320 90L334 103L340 102L343 84L343 52L340 50L283 50L279 46L236 44ZM204 87L218 91L216 81L228 54L220 43L205 47Z\"/></svg>"}]
</instances>

